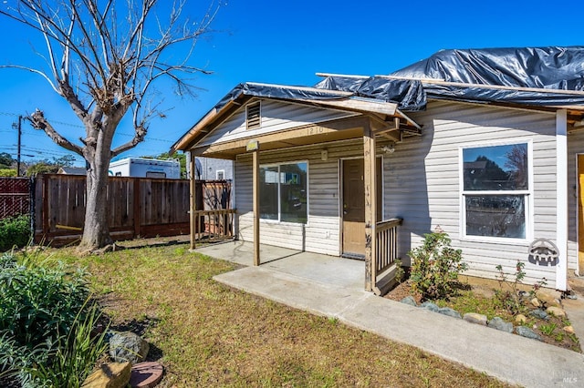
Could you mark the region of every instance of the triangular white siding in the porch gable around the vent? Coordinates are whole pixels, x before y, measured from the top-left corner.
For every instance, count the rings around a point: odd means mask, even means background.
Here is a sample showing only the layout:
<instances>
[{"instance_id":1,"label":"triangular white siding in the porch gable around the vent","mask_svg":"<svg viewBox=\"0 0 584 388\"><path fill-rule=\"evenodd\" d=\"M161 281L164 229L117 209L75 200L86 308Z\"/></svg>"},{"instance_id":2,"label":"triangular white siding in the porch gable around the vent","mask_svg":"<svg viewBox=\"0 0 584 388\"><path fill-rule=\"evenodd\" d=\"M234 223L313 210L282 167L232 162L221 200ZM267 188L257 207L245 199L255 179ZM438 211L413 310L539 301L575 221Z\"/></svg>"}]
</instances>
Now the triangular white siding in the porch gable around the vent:
<instances>
[{"instance_id":1,"label":"triangular white siding in the porch gable around the vent","mask_svg":"<svg viewBox=\"0 0 584 388\"><path fill-rule=\"evenodd\" d=\"M250 101L253 103L254 101ZM296 128L308 124L355 116L354 113L333 109L308 107L279 101L261 100L261 127L248 130L245 128L245 106L224 120L212 133L203 138L197 147L209 146L218 142L255 137L284 129Z\"/></svg>"}]
</instances>

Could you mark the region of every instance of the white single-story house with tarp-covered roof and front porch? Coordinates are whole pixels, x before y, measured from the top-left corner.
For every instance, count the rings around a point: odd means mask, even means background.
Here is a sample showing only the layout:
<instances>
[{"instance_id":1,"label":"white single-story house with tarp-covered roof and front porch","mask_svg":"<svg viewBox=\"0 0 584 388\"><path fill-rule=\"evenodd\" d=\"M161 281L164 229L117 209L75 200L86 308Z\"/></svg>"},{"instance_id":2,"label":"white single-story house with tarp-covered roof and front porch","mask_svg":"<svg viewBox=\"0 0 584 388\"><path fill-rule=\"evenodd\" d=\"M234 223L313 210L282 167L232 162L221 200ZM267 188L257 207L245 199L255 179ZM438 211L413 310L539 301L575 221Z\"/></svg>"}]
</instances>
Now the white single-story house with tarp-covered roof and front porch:
<instances>
[{"instance_id":1,"label":"white single-story house with tarp-covered roof and front porch","mask_svg":"<svg viewBox=\"0 0 584 388\"><path fill-rule=\"evenodd\" d=\"M584 271L583 65L583 47L447 50L391 76L241 84L172 150L235 161L240 240L364 257L369 291L438 226L467 274L521 260L566 291Z\"/></svg>"}]
</instances>

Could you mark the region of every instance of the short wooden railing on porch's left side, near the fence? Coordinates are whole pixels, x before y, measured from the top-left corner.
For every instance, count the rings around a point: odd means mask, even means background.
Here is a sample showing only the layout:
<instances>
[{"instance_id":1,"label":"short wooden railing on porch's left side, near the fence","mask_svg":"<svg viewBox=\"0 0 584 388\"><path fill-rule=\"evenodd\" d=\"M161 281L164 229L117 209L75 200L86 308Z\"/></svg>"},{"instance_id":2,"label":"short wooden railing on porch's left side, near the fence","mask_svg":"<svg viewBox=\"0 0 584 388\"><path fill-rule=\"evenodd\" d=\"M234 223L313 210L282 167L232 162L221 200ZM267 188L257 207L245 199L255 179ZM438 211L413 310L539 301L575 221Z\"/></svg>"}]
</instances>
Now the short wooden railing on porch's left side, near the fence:
<instances>
[{"instance_id":1,"label":"short wooden railing on porch's left side, near the fence","mask_svg":"<svg viewBox=\"0 0 584 388\"><path fill-rule=\"evenodd\" d=\"M194 240L233 239L235 209L196 210L194 214Z\"/></svg>"}]
</instances>

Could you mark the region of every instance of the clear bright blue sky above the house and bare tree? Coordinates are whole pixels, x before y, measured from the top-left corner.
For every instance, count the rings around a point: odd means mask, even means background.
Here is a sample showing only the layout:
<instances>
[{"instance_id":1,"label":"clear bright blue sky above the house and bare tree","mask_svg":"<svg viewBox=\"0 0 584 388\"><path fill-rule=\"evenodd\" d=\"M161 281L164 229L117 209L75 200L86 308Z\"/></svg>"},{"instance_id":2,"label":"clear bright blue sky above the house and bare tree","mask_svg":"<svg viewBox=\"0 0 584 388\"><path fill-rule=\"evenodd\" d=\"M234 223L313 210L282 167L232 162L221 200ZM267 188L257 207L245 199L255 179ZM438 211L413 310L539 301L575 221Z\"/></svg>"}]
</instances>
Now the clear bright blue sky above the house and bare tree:
<instances>
[{"instance_id":1,"label":"clear bright blue sky above the house and bare tree","mask_svg":"<svg viewBox=\"0 0 584 388\"><path fill-rule=\"evenodd\" d=\"M196 5L195 3L198 3ZM205 1L193 2L199 14ZM443 48L579 46L584 3L555 1L307 1L229 0L201 40L192 63L214 72L195 79L196 98L165 91L166 118L151 122L146 140L120 157L167 151L198 119L240 82L312 86L315 73L388 74ZM0 18L0 65L29 65L34 32ZM36 46L41 51L42 46ZM16 156L18 115L39 108L64 135L83 134L68 104L47 81L22 70L0 69L0 152ZM130 139L122 122L115 144ZM43 132L23 125L23 159L68 154ZM80 157L77 165L83 165Z\"/></svg>"}]
</instances>

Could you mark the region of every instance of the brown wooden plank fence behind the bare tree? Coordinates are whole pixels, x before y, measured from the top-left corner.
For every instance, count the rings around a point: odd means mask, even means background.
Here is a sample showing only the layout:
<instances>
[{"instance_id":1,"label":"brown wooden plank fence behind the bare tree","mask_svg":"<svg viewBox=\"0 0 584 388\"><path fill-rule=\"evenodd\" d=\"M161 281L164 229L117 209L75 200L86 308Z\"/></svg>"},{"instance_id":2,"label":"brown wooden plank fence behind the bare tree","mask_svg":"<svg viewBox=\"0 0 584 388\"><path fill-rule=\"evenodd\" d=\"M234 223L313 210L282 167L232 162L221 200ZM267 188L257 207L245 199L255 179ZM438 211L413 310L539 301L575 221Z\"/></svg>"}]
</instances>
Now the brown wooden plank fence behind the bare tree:
<instances>
[{"instance_id":1,"label":"brown wooden plank fence behind the bare tree","mask_svg":"<svg viewBox=\"0 0 584 388\"><path fill-rule=\"evenodd\" d=\"M203 209L205 201L214 203L203 195L207 191L206 182L197 181L196 186L197 209ZM213 186L219 188L213 190L219 198L227 195L228 206L230 183L213 182ZM113 240L190 232L188 180L110 177L107 190L106 211ZM85 176L39 176L34 197L36 242L61 245L81 237L85 220Z\"/></svg>"}]
</instances>

